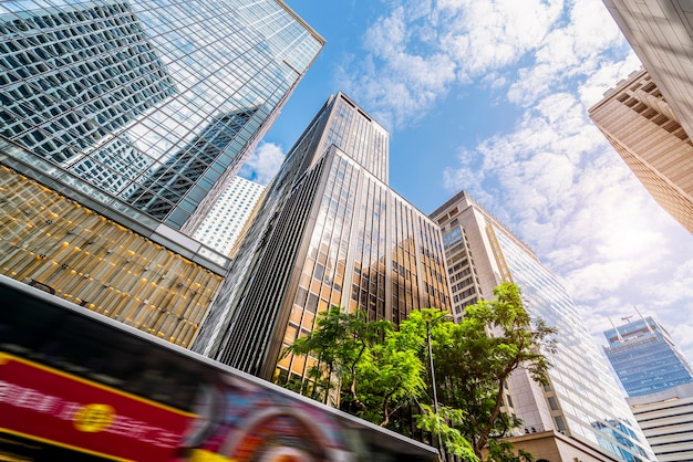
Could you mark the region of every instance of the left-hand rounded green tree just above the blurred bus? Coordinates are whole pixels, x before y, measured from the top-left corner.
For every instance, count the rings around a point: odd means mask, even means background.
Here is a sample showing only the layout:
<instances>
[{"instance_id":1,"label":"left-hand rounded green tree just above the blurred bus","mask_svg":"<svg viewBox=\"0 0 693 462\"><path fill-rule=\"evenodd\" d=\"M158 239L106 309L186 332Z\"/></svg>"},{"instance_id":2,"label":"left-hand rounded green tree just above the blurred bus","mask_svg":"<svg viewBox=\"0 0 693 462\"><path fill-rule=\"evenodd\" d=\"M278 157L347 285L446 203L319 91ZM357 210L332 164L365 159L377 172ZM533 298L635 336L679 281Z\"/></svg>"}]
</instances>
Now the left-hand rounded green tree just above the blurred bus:
<instances>
[{"instance_id":1,"label":"left-hand rounded green tree just above the blurred bus","mask_svg":"<svg viewBox=\"0 0 693 462\"><path fill-rule=\"evenodd\" d=\"M332 307L318 315L316 328L297 339L286 354L310 355L308 388L301 392L327 401L340 393L340 408L380 426L420 397L426 385L418 351L385 319L368 322L366 314Z\"/></svg>"}]
</instances>

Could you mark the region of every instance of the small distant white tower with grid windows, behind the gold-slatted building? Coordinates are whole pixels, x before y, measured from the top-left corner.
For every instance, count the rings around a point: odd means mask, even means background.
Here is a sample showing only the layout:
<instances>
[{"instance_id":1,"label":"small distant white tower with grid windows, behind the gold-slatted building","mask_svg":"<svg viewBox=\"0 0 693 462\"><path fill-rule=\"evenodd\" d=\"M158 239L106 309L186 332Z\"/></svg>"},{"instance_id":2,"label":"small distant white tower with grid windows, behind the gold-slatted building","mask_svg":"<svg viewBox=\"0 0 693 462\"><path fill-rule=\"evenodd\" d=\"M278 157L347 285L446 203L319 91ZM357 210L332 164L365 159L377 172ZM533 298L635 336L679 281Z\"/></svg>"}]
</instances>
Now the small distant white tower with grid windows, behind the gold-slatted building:
<instances>
[{"instance_id":1,"label":"small distant white tower with grid windows, behind the gold-slatted building","mask_svg":"<svg viewBox=\"0 0 693 462\"><path fill-rule=\"evenodd\" d=\"M263 191L262 185L234 178L193 238L228 255Z\"/></svg>"}]
</instances>

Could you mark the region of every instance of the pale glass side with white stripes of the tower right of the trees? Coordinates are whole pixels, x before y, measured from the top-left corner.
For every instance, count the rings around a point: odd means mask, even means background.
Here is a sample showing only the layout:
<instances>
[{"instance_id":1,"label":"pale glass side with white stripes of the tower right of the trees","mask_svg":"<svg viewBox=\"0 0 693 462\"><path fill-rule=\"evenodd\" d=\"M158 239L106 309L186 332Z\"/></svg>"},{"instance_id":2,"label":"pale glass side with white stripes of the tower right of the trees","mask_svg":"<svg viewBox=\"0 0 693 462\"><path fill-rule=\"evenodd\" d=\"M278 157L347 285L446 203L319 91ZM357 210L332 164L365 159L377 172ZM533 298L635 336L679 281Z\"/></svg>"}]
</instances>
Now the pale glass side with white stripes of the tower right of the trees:
<instances>
[{"instance_id":1,"label":"pale glass side with white stripes of the tower right of the trees","mask_svg":"<svg viewBox=\"0 0 693 462\"><path fill-rule=\"evenodd\" d=\"M654 461L608 365L592 340L572 297L558 279L500 228L493 233L532 316L558 329L556 354L548 355L550 390L559 402L556 429L583 438L629 462Z\"/></svg>"}]
</instances>

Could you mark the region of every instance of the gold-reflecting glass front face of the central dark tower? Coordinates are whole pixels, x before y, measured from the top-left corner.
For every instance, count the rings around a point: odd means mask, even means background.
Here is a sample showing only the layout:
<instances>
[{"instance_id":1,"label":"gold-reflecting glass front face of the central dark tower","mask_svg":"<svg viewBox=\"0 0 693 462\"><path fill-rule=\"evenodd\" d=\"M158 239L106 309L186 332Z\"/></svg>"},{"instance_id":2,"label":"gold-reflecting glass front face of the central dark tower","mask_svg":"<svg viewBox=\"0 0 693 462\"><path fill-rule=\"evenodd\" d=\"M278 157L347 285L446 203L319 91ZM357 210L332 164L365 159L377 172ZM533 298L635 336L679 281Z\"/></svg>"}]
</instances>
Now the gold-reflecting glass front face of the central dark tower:
<instances>
[{"instance_id":1,"label":"gold-reflecting glass front face of the central dark tower","mask_svg":"<svg viewBox=\"0 0 693 462\"><path fill-rule=\"evenodd\" d=\"M330 171L319 188L317 219L301 237L307 254L299 255L294 271L300 275L287 287L283 309L290 316L283 335L272 342L281 349L291 345L331 306L395 324L413 309L449 312L438 227L338 149L325 161ZM275 379L300 380L311 360L285 357Z\"/></svg>"}]
</instances>

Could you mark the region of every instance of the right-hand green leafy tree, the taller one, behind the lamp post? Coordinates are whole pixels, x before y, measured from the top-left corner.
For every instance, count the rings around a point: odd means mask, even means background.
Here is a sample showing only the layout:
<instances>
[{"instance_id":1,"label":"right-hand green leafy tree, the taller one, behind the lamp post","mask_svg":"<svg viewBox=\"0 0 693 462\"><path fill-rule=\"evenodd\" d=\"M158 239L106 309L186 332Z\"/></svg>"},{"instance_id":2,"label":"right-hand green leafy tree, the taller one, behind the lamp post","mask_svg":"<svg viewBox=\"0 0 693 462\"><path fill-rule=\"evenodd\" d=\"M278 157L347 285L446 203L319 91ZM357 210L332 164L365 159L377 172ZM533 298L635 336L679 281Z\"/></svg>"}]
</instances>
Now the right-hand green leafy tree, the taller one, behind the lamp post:
<instances>
[{"instance_id":1,"label":"right-hand green leafy tree, the taller one, behind the lamp post","mask_svg":"<svg viewBox=\"0 0 693 462\"><path fill-rule=\"evenodd\" d=\"M432 327L437 396L444 406L465 411L454 427L472 443L477 458L486 448L488 460L515 461L511 448L498 441L520 424L501 412L506 384L520 367L534 380L547 382L550 363L542 351L555 351L556 330L541 318L530 318L517 285L503 283L494 294L493 301L468 306L459 324Z\"/></svg>"}]
</instances>

